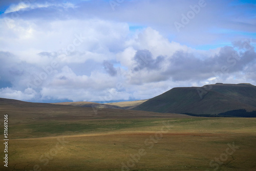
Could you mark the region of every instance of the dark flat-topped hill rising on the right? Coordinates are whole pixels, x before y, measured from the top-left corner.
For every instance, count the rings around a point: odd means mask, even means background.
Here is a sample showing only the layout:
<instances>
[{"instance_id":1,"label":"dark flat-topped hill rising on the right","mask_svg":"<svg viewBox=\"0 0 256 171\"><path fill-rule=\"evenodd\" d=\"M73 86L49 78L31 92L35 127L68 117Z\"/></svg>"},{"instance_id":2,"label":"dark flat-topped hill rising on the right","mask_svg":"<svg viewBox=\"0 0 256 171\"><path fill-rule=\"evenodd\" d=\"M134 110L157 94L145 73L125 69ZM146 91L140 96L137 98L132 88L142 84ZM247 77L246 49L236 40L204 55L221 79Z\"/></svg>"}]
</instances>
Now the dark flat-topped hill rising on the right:
<instances>
[{"instance_id":1,"label":"dark flat-topped hill rising on the right","mask_svg":"<svg viewBox=\"0 0 256 171\"><path fill-rule=\"evenodd\" d=\"M256 86L216 83L203 87L173 88L133 110L161 113L220 114L234 110L256 111Z\"/></svg>"}]
</instances>

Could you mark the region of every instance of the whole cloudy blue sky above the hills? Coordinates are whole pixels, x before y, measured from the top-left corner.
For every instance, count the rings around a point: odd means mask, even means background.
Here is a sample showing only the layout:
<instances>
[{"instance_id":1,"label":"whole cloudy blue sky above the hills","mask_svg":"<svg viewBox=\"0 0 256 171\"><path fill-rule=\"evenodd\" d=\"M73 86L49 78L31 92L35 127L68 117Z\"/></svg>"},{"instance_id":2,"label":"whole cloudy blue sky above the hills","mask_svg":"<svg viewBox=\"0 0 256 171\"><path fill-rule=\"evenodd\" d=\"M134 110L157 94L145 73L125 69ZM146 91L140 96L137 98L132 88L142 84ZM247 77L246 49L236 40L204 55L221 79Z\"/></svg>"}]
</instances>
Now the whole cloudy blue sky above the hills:
<instances>
[{"instance_id":1,"label":"whole cloudy blue sky above the hills","mask_svg":"<svg viewBox=\"0 0 256 171\"><path fill-rule=\"evenodd\" d=\"M256 85L256 1L0 1L0 97L149 99Z\"/></svg>"}]
</instances>

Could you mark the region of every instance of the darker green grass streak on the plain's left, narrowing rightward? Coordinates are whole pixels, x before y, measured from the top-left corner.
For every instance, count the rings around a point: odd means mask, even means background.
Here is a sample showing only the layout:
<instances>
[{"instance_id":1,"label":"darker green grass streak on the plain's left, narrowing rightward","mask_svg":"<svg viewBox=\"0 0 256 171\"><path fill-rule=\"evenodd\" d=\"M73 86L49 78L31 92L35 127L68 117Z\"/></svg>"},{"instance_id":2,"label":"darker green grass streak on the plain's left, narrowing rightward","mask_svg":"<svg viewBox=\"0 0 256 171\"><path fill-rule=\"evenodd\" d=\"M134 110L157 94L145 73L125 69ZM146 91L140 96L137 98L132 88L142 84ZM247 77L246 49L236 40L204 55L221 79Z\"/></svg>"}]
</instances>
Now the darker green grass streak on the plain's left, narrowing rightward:
<instances>
[{"instance_id":1,"label":"darker green grass streak on the plain's left, narrowing rightward","mask_svg":"<svg viewBox=\"0 0 256 171\"><path fill-rule=\"evenodd\" d=\"M161 119L160 119L161 120ZM15 132L13 138L46 137L49 135L100 133L117 131L122 129L146 127L158 125L159 119L111 119L111 120L90 120L90 121L50 121L33 124L19 124L10 128Z\"/></svg>"}]
</instances>

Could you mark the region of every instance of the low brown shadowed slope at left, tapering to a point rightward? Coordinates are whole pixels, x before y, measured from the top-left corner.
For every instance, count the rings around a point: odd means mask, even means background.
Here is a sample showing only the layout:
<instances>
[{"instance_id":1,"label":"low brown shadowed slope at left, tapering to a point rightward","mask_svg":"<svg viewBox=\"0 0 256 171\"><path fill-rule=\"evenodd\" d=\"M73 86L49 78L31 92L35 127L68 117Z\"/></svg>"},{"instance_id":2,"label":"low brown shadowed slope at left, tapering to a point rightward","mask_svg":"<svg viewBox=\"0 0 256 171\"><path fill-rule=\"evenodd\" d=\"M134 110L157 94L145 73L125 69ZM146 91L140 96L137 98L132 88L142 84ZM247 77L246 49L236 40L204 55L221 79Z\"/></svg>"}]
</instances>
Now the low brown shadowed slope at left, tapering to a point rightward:
<instances>
[{"instance_id":1,"label":"low brown shadowed slope at left, tapering to a point rightward","mask_svg":"<svg viewBox=\"0 0 256 171\"><path fill-rule=\"evenodd\" d=\"M32 103L0 98L0 113L8 115L9 124L82 119L191 118L187 115L165 114L122 109L86 108L74 105Z\"/></svg>"}]
</instances>

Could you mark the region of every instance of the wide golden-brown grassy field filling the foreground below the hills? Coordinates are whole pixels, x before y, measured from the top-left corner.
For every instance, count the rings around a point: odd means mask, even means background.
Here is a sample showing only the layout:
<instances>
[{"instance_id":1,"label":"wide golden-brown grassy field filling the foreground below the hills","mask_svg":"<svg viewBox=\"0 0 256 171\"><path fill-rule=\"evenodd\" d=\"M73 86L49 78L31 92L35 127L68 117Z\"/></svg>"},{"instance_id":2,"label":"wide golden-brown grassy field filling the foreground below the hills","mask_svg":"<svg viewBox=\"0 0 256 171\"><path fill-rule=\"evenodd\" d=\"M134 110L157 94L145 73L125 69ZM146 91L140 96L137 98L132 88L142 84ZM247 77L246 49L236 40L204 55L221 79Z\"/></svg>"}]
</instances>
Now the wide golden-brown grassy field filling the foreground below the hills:
<instances>
[{"instance_id":1,"label":"wide golden-brown grassy field filling the foreground below the hills","mask_svg":"<svg viewBox=\"0 0 256 171\"><path fill-rule=\"evenodd\" d=\"M183 117L11 124L7 170L256 170L255 123ZM239 149L227 155L228 144ZM221 164L209 165L218 158Z\"/></svg>"}]
</instances>

